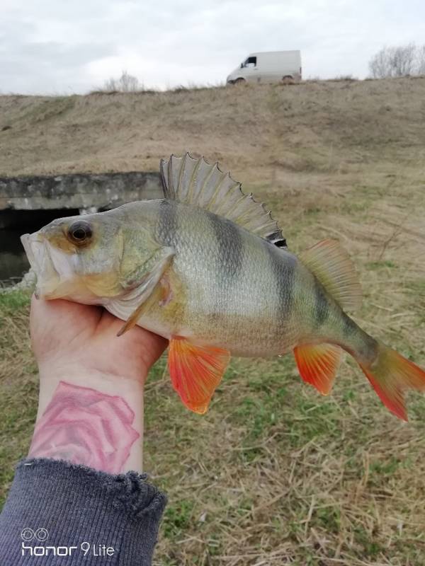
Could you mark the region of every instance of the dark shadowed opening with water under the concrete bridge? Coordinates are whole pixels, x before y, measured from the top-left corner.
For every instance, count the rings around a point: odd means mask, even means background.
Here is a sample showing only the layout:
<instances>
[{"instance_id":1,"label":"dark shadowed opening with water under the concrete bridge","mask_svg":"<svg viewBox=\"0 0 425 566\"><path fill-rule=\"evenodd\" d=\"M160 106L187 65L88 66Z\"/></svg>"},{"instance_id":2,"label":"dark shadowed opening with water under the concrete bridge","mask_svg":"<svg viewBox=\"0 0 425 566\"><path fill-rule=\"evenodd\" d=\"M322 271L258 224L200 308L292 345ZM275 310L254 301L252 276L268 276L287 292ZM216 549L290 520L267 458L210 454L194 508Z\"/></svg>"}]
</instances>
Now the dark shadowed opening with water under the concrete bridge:
<instances>
[{"instance_id":1,"label":"dark shadowed opening with water under the concrete bridge","mask_svg":"<svg viewBox=\"0 0 425 566\"><path fill-rule=\"evenodd\" d=\"M55 218L79 214L74 209L1 211L0 226L0 284L18 282L28 272L30 265L21 244L21 235L35 232Z\"/></svg>"}]
</instances>

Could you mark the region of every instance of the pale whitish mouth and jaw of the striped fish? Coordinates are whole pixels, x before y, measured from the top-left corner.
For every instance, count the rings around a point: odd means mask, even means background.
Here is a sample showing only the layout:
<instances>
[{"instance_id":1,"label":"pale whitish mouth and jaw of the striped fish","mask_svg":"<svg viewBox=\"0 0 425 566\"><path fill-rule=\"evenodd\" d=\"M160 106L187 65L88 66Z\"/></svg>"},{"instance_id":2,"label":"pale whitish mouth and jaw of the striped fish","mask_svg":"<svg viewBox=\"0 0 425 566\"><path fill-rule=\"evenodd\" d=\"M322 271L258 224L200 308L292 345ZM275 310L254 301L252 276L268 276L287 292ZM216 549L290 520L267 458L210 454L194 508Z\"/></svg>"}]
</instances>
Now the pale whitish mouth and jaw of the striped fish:
<instances>
[{"instance_id":1,"label":"pale whitish mouth and jaw of the striped fish","mask_svg":"<svg viewBox=\"0 0 425 566\"><path fill-rule=\"evenodd\" d=\"M72 255L51 246L40 232L23 234L21 242L37 277L34 294L38 299L64 299L75 293Z\"/></svg>"}]
</instances>

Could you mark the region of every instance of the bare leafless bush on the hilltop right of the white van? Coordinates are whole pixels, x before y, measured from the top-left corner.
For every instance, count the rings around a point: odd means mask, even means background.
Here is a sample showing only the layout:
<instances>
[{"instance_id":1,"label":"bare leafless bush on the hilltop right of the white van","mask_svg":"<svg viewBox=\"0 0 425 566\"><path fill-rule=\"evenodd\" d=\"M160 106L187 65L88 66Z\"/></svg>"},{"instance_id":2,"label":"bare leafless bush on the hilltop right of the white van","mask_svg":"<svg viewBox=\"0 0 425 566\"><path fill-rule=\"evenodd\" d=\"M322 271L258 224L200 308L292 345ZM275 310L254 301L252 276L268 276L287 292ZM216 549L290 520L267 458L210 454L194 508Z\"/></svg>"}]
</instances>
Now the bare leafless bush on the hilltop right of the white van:
<instances>
[{"instance_id":1,"label":"bare leafless bush on the hilltop right of the white van","mask_svg":"<svg viewBox=\"0 0 425 566\"><path fill-rule=\"evenodd\" d=\"M374 79L423 74L425 45L416 47L414 43L409 43L398 47L382 47L370 59L369 70Z\"/></svg>"}]
</instances>

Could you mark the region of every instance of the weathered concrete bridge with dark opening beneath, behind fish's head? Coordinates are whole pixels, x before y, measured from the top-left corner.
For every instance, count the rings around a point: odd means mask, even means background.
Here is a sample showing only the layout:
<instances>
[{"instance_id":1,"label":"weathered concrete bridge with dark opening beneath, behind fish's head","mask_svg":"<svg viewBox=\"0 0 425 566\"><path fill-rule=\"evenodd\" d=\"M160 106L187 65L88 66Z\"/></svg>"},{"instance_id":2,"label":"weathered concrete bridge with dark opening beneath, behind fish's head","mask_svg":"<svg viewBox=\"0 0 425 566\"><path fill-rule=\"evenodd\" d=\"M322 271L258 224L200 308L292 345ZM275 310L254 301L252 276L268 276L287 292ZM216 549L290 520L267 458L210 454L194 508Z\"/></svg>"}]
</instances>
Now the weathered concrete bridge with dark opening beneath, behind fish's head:
<instances>
[{"instance_id":1,"label":"weathered concrete bridge with dark opening beneath, behind fish's head","mask_svg":"<svg viewBox=\"0 0 425 566\"><path fill-rule=\"evenodd\" d=\"M29 265L20 236L55 218L98 212L163 196L158 173L77 173L0 178L0 286Z\"/></svg>"}]
</instances>

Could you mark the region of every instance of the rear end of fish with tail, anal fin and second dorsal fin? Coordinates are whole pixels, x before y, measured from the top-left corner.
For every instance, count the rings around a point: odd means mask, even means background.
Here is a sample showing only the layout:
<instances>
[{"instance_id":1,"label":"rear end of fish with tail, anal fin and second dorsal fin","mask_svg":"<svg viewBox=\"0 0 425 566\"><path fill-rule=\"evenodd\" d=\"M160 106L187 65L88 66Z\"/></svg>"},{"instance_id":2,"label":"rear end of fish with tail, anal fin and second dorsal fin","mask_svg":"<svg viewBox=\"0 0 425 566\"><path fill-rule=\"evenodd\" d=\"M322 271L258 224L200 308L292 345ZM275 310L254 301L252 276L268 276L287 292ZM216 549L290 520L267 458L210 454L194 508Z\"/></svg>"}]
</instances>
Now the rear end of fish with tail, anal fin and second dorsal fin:
<instances>
[{"instance_id":1,"label":"rear end of fish with tail, anal fin and second dorsal fin","mask_svg":"<svg viewBox=\"0 0 425 566\"><path fill-rule=\"evenodd\" d=\"M294 349L300 375L320 393L331 390L341 349L356 359L382 403L407 420L406 389L425 390L425 371L364 332L344 311L360 304L361 292L348 256L335 241L322 241L300 255L313 273L314 333ZM329 302L327 291L334 299ZM307 340L307 339L306 339Z\"/></svg>"}]
</instances>

